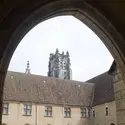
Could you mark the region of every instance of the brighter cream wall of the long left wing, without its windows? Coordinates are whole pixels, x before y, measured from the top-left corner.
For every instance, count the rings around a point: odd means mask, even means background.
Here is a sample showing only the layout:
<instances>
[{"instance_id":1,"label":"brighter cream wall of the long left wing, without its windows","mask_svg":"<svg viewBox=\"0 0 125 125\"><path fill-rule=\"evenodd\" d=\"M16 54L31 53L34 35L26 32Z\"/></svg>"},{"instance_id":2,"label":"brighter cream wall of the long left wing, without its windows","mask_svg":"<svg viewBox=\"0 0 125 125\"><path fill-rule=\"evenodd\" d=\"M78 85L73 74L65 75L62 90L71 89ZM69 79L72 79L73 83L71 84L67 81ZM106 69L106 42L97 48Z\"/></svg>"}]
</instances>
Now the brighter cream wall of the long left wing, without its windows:
<instances>
[{"instance_id":1,"label":"brighter cream wall of the long left wing, without its windows","mask_svg":"<svg viewBox=\"0 0 125 125\"><path fill-rule=\"evenodd\" d=\"M2 123L6 125L87 125L88 118L81 116L80 107L34 104L32 105L31 114L24 114L23 102L7 102L9 103L8 114L2 115ZM45 114L46 106L52 106L52 115ZM71 116L65 117L64 108L70 107Z\"/></svg>"}]
</instances>

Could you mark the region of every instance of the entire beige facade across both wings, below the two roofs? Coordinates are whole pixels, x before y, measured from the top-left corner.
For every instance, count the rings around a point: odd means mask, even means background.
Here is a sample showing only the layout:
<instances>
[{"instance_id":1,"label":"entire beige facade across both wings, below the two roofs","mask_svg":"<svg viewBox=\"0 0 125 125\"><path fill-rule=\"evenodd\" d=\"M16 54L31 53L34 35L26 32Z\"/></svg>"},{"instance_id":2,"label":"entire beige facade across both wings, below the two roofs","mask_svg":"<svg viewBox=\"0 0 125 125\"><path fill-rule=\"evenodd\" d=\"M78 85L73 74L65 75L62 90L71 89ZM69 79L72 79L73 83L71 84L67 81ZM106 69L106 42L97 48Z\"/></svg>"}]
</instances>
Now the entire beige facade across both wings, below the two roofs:
<instances>
[{"instance_id":1,"label":"entire beige facade across both wings, below the two roofs","mask_svg":"<svg viewBox=\"0 0 125 125\"><path fill-rule=\"evenodd\" d=\"M8 103L8 113L2 115L2 123L6 125L111 125L116 122L116 107L115 101L93 106L89 110L88 107L69 106L69 105L53 105L53 104L36 104L26 102ZM24 104L31 105L31 114L24 114ZM52 115L46 116L45 107L52 106ZM71 116L65 117L65 107L71 109ZM108 114L106 115L106 108ZM81 108L86 109L84 114L81 114ZM93 114L95 111L95 116Z\"/></svg>"}]
</instances>

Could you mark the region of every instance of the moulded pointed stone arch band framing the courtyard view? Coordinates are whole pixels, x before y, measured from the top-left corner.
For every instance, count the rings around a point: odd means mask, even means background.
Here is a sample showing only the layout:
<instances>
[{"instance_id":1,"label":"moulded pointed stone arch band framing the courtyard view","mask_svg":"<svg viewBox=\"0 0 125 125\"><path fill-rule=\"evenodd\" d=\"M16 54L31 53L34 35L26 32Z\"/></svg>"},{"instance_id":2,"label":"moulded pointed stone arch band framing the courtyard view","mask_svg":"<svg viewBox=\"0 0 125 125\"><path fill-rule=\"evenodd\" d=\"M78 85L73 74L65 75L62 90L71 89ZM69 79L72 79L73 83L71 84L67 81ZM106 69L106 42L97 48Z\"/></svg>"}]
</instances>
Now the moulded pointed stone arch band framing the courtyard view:
<instances>
[{"instance_id":1,"label":"moulded pointed stone arch band framing the courtyard view","mask_svg":"<svg viewBox=\"0 0 125 125\"><path fill-rule=\"evenodd\" d=\"M25 10L25 8L23 9ZM16 21L17 18L19 18L21 21L17 21L17 23L14 22L15 27L10 33L9 37L7 39L3 39L3 42L8 41L9 44L6 46L3 56L1 57L1 88L3 88L4 85L4 78L10 59L23 36L38 23L59 15L73 15L92 29L107 46L116 60L121 73L123 76L125 76L125 53L122 50L125 41L123 37L103 14L101 14L87 2L82 0L50 1L45 4L40 4L35 9L33 8L28 15L23 13L25 15L24 17L21 17L20 14L21 12L16 15L17 17L15 19L10 20L10 22L12 21L11 23ZM7 19L10 19L9 16ZM119 41L120 44L118 44L117 41ZM2 101L2 94L3 89L1 89L0 101ZM2 114L1 105L0 114Z\"/></svg>"}]
</instances>

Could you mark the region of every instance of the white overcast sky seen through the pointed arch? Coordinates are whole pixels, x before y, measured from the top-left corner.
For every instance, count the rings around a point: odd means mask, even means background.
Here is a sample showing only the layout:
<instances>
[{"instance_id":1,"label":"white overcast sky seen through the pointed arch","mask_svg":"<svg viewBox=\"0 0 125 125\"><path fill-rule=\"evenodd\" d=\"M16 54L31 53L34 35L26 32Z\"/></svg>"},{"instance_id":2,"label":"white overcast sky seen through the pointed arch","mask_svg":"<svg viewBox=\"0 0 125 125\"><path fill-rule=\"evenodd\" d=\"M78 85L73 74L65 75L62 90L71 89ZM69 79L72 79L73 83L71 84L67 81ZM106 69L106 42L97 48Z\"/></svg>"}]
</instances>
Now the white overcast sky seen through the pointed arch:
<instances>
[{"instance_id":1,"label":"white overcast sky seen through the pointed arch","mask_svg":"<svg viewBox=\"0 0 125 125\"><path fill-rule=\"evenodd\" d=\"M10 62L9 70L25 72L30 61L32 74L47 76L49 54L69 51L72 79L86 81L106 72L113 58L101 40L81 21L60 16L34 27L22 39Z\"/></svg>"}]
</instances>

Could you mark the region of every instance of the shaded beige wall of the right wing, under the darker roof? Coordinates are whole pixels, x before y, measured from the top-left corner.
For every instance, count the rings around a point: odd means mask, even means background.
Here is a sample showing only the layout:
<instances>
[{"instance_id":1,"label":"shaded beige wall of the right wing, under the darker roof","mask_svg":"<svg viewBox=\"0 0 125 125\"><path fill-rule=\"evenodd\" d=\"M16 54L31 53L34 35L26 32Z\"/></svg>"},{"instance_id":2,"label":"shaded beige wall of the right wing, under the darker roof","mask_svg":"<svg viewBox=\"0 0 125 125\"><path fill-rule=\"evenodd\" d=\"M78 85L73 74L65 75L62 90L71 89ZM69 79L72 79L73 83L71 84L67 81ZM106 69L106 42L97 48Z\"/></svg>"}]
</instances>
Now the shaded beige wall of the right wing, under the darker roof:
<instances>
[{"instance_id":1,"label":"shaded beige wall of the right wing, under the darker roof","mask_svg":"<svg viewBox=\"0 0 125 125\"><path fill-rule=\"evenodd\" d=\"M92 115L90 121L93 125L111 125L112 123L116 125L115 101L93 106Z\"/></svg>"}]
</instances>

